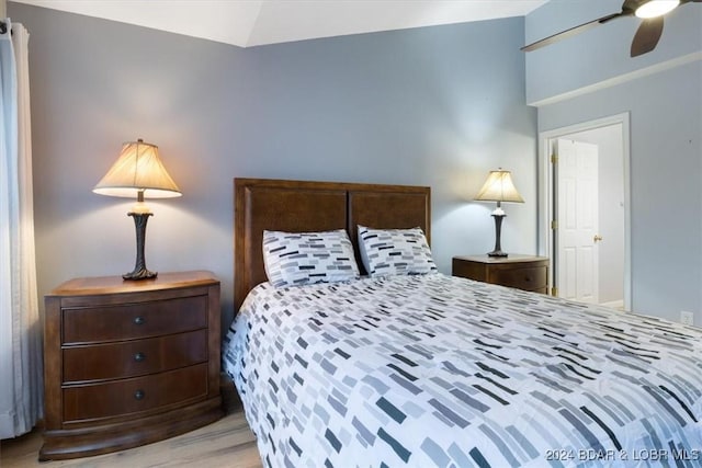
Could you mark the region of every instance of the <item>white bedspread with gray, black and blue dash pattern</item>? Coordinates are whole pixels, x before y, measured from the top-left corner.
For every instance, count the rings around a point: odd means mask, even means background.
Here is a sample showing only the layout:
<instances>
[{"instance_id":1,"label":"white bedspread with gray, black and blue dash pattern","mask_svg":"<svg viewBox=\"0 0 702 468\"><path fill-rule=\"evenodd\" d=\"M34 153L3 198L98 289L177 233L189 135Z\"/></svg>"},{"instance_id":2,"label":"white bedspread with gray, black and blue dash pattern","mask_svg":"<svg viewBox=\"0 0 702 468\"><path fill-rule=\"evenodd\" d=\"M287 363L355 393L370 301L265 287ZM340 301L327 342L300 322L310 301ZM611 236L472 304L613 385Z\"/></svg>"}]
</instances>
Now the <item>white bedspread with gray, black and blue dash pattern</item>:
<instances>
[{"instance_id":1,"label":"white bedspread with gray, black and blue dash pattern","mask_svg":"<svg viewBox=\"0 0 702 468\"><path fill-rule=\"evenodd\" d=\"M225 369L271 467L699 467L702 330L432 274L259 285Z\"/></svg>"}]
</instances>

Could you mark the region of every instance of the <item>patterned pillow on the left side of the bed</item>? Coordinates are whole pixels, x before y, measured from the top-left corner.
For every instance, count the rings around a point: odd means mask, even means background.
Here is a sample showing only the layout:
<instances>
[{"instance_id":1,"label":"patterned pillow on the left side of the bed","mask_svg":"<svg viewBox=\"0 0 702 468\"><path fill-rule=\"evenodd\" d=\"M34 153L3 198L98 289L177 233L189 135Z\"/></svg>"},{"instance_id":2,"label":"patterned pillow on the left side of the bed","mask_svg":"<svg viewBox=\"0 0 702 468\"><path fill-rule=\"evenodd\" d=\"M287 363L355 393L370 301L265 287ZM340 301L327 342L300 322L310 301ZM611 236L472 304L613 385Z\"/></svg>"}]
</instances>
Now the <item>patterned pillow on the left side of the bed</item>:
<instances>
[{"instance_id":1,"label":"patterned pillow on the left side of the bed","mask_svg":"<svg viewBox=\"0 0 702 468\"><path fill-rule=\"evenodd\" d=\"M263 265L275 287L358 279L347 231L263 231Z\"/></svg>"}]
</instances>

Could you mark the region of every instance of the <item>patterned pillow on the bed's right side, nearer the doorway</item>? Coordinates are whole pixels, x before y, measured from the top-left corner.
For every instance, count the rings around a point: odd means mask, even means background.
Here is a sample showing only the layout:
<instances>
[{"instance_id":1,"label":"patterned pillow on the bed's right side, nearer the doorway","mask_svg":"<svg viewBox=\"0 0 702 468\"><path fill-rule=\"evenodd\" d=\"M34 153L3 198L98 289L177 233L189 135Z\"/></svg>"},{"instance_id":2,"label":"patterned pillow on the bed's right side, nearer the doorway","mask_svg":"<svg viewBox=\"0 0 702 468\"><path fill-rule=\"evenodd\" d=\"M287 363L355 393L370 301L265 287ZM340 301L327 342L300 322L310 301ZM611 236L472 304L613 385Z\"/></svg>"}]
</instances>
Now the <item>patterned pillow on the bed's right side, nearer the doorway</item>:
<instances>
[{"instance_id":1,"label":"patterned pillow on the bed's right side, nearer the doorway","mask_svg":"<svg viewBox=\"0 0 702 468\"><path fill-rule=\"evenodd\" d=\"M372 229L359 225L359 250L370 276L437 273L421 228Z\"/></svg>"}]
</instances>

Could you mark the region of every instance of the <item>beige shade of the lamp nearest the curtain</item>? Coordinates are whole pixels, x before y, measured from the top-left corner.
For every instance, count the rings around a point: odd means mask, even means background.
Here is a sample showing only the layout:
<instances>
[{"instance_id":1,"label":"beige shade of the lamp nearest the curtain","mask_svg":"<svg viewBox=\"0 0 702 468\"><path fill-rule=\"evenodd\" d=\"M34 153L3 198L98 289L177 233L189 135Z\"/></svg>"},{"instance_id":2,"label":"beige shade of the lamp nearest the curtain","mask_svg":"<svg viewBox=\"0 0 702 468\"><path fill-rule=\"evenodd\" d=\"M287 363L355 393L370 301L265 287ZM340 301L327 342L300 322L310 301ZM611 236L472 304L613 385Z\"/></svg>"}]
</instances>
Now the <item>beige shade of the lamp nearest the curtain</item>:
<instances>
[{"instance_id":1,"label":"beige shade of the lamp nearest the curtain","mask_svg":"<svg viewBox=\"0 0 702 468\"><path fill-rule=\"evenodd\" d=\"M180 189L166 171L158 147L144 140L125 142L117 161L92 190L100 195L137 198L181 196Z\"/></svg>"}]
</instances>

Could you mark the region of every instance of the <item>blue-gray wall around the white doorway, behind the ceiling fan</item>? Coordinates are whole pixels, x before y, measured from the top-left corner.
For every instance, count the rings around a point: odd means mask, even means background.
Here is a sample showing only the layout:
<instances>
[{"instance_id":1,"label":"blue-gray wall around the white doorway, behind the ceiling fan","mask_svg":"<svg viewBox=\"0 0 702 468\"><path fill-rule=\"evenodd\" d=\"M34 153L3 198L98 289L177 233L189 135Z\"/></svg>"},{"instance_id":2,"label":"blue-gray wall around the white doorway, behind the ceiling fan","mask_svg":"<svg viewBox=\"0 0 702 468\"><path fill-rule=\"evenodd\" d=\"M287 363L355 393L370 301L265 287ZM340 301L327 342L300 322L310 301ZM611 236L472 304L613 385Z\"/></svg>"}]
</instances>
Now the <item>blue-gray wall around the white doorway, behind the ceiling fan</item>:
<instances>
[{"instance_id":1,"label":"blue-gray wall around the white doorway, behind the ceiling fan","mask_svg":"<svg viewBox=\"0 0 702 468\"><path fill-rule=\"evenodd\" d=\"M551 0L526 18L526 42L620 9ZM665 21L658 47L637 58L635 18L526 54L526 96L540 132L630 113L632 308L693 311L702 324L702 4Z\"/></svg>"}]
</instances>

